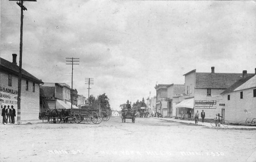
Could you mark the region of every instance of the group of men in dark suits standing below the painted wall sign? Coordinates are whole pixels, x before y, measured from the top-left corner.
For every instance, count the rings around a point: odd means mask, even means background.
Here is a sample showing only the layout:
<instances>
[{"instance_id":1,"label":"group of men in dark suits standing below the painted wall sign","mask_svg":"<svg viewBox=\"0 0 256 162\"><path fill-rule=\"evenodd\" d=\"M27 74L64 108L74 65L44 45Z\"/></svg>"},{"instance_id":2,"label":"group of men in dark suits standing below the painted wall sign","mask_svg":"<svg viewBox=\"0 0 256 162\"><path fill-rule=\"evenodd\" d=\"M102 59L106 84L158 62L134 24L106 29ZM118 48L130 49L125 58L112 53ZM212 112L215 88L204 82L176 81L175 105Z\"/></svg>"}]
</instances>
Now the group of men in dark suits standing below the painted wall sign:
<instances>
[{"instance_id":1,"label":"group of men in dark suits standing below the painted wall sign","mask_svg":"<svg viewBox=\"0 0 256 162\"><path fill-rule=\"evenodd\" d=\"M16 111L13 108L13 105L10 106L8 105L6 108L6 105L1 105L2 109L2 117L3 117L3 124L8 123L8 118L9 118L9 123L14 124L15 123L15 116L16 116Z\"/></svg>"}]
</instances>

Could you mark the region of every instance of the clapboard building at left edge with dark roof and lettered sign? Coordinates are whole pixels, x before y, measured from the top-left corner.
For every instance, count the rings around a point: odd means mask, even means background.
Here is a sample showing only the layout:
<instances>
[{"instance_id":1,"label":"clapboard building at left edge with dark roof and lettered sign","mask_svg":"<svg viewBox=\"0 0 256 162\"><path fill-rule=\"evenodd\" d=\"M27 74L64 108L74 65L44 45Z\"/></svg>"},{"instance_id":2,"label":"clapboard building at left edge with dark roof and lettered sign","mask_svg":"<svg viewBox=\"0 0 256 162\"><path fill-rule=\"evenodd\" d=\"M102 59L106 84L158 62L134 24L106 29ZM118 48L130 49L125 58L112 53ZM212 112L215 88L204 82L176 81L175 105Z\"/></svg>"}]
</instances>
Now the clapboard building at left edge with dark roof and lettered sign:
<instances>
[{"instance_id":1,"label":"clapboard building at left edge with dark roof and lettered sign","mask_svg":"<svg viewBox=\"0 0 256 162\"><path fill-rule=\"evenodd\" d=\"M19 66L13 54L13 62L0 58L0 105L13 105L18 116ZM43 83L22 69L20 120L38 119L40 84Z\"/></svg>"}]
</instances>

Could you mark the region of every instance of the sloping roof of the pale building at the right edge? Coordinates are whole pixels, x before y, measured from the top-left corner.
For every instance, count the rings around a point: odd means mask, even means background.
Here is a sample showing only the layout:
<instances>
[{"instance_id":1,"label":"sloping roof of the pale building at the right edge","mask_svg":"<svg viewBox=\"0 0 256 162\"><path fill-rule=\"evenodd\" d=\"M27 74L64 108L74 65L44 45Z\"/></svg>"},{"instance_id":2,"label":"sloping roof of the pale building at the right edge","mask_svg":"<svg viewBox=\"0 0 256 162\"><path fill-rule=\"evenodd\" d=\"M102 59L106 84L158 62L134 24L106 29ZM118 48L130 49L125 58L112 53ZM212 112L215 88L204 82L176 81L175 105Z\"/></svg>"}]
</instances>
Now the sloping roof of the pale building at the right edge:
<instances>
[{"instance_id":1,"label":"sloping roof of the pale building at the right edge","mask_svg":"<svg viewBox=\"0 0 256 162\"><path fill-rule=\"evenodd\" d=\"M234 91L241 91L243 89L248 89L253 87L256 87L256 75L248 76L248 77L245 77L244 79L238 80L221 94L231 93Z\"/></svg>"}]
</instances>

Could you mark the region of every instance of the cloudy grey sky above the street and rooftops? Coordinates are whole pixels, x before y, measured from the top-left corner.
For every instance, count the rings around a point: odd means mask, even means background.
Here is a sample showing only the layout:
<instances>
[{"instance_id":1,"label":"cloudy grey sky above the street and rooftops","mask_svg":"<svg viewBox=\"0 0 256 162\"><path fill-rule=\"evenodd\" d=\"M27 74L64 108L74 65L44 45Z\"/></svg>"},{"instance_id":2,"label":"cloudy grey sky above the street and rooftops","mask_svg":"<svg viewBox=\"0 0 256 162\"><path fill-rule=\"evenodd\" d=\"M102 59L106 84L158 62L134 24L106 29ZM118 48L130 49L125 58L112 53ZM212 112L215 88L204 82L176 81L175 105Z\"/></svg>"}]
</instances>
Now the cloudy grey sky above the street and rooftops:
<instances>
[{"instance_id":1,"label":"cloudy grey sky above the street and rooftops","mask_svg":"<svg viewBox=\"0 0 256 162\"><path fill-rule=\"evenodd\" d=\"M156 84L184 84L183 74L254 73L253 1L25 2L22 68L43 82L88 97L106 93L113 110L156 95ZM12 62L20 45L20 7L1 0L0 55ZM19 61L18 61L19 62ZM19 63L18 63L19 64ZM151 92L151 93L150 93Z\"/></svg>"}]
</instances>

